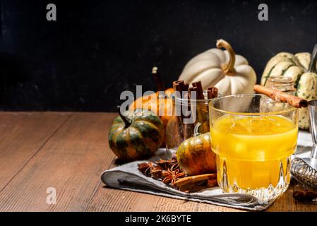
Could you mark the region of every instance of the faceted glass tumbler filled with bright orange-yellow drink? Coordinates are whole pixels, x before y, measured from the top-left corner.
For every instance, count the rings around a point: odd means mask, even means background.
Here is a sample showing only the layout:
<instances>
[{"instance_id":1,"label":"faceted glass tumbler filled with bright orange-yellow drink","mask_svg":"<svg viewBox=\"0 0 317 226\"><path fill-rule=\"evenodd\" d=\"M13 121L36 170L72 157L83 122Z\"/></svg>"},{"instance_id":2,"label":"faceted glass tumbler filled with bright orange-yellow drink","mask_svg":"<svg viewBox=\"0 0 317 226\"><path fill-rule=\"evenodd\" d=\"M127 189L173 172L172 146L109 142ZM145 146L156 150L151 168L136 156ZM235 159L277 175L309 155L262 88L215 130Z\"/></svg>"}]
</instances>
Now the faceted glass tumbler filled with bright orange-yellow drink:
<instances>
[{"instance_id":1,"label":"faceted glass tumbler filled with bright orange-yellow drink","mask_svg":"<svg viewBox=\"0 0 317 226\"><path fill-rule=\"evenodd\" d=\"M298 110L249 94L212 100L209 114L220 188L262 201L282 194L297 145Z\"/></svg>"}]
</instances>

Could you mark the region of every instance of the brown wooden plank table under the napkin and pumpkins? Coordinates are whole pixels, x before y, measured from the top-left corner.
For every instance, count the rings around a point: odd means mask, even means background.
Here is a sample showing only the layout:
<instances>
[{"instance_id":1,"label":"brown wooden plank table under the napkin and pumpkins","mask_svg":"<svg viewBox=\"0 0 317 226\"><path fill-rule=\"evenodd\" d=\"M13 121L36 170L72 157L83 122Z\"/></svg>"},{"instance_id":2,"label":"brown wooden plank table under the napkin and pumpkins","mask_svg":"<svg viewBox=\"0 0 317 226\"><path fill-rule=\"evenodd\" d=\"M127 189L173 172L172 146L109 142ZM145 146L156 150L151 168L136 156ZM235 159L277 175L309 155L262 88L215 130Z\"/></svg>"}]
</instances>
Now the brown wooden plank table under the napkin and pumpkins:
<instances>
[{"instance_id":1,"label":"brown wooden plank table under the napkin and pumpkins","mask_svg":"<svg viewBox=\"0 0 317 226\"><path fill-rule=\"evenodd\" d=\"M1 112L0 211L241 211L104 187L114 113ZM56 204L47 204L47 189ZM51 191L51 190L49 190ZM317 211L292 187L268 211Z\"/></svg>"}]
</instances>

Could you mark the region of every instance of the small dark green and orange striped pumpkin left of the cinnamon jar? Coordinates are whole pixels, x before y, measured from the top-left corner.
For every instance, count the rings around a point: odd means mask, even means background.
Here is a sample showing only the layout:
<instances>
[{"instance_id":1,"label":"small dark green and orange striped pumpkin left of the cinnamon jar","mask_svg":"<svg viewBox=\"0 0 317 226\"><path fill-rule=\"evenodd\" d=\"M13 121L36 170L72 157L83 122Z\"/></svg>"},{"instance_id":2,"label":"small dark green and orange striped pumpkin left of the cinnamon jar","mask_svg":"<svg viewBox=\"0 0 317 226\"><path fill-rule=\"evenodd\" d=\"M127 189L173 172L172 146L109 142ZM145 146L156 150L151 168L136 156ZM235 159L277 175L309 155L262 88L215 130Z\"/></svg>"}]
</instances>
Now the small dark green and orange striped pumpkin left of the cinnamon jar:
<instances>
[{"instance_id":1,"label":"small dark green and orange striped pumpkin left of the cinnamon jar","mask_svg":"<svg viewBox=\"0 0 317 226\"><path fill-rule=\"evenodd\" d=\"M155 153L164 138L164 126L154 112L135 109L120 113L109 131L109 147L120 160L140 160Z\"/></svg>"}]
</instances>

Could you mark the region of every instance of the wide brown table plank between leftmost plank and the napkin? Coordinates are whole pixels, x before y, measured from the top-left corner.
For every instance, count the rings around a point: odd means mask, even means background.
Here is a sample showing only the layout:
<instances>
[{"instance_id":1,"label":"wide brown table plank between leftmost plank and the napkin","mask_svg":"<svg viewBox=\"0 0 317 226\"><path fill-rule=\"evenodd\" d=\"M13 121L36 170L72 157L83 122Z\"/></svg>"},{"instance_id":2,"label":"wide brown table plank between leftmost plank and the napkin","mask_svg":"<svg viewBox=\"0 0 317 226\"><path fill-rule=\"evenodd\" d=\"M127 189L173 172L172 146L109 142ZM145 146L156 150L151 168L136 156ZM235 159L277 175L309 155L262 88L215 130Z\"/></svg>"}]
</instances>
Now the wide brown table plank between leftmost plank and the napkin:
<instances>
[{"instance_id":1,"label":"wide brown table plank between leftmost plank and the napkin","mask_svg":"<svg viewBox=\"0 0 317 226\"><path fill-rule=\"evenodd\" d=\"M83 210L111 160L104 151L113 118L114 114L72 114L1 191L0 210ZM46 203L49 187L56 189L56 205Z\"/></svg>"}]
</instances>

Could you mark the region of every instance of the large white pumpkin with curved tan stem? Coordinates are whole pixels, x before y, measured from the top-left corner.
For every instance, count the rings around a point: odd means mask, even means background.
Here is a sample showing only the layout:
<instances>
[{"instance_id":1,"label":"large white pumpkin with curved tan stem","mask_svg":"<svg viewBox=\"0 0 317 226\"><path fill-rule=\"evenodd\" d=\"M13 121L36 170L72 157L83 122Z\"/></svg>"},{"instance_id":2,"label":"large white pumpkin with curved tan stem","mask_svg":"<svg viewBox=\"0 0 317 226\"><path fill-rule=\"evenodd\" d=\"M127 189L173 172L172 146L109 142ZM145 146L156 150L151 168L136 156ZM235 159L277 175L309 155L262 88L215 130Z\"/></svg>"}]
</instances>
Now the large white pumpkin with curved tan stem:
<instances>
[{"instance_id":1,"label":"large white pumpkin with curved tan stem","mask_svg":"<svg viewBox=\"0 0 317 226\"><path fill-rule=\"evenodd\" d=\"M256 72L248 61L236 55L225 40L217 40L217 48L193 57L184 67L179 80L185 83L201 81L204 90L215 86L222 95L254 93ZM222 51L221 48L227 50Z\"/></svg>"}]
</instances>

